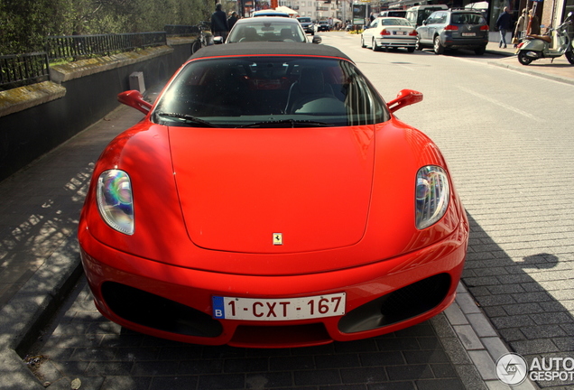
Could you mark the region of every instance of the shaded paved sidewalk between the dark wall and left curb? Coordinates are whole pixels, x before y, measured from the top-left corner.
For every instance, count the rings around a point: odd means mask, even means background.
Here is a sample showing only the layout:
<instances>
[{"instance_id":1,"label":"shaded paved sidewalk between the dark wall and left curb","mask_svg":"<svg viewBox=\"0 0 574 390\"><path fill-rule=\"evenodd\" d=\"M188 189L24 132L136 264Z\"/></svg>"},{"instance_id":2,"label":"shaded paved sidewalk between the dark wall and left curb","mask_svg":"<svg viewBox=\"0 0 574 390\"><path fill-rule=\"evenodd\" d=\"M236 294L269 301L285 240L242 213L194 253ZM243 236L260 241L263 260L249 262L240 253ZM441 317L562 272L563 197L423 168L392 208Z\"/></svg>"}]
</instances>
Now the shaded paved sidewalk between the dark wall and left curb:
<instances>
[{"instance_id":1,"label":"shaded paved sidewalk between the dark wall and left curb","mask_svg":"<svg viewBox=\"0 0 574 390\"><path fill-rule=\"evenodd\" d=\"M0 182L0 309L76 234L97 156L141 117L120 107Z\"/></svg>"}]
</instances>

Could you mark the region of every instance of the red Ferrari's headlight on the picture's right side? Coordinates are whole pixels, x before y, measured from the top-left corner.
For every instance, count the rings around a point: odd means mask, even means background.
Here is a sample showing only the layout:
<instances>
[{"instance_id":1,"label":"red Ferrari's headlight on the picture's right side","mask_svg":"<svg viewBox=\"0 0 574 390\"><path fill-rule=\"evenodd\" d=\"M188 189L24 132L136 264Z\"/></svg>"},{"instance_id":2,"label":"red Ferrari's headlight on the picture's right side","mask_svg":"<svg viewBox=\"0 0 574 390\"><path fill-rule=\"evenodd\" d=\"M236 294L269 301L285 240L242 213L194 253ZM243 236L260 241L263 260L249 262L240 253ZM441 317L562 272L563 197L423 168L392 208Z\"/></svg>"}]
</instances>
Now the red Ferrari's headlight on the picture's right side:
<instances>
[{"instance_id":1,"label":"red Ferrari's headlight on the picture's right side","mask_svg":"<svg viewBox=\"0 0 574 390\"><path fill-rule=\"evenodd\" d=\"M434 165L422 167L417 172L415 194L416 227L429 228L436 223L449 207L449 176Z\"/></svg>"}]
</instances>

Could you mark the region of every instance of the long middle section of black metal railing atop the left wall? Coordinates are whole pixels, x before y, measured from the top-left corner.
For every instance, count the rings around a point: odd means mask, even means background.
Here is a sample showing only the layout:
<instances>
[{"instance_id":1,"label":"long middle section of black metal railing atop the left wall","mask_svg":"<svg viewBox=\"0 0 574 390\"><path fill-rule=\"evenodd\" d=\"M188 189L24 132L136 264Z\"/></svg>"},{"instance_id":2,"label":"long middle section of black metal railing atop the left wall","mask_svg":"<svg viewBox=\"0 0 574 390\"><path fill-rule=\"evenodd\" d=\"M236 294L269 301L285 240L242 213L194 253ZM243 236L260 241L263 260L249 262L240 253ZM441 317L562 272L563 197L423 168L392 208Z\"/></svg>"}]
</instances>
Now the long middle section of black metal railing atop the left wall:
<instances>
[{"instance_id":1,"label":"long middle section of black metal railing atop the left wall","mask_svg":"<svg viewBox=\"0 0 574 390\"><path fill-rule=\"evenodd\" d=\"M166 32L49 36L46 38L46 52L50 60L78 60L165 44Z\"/></svg>"}]
</instances>

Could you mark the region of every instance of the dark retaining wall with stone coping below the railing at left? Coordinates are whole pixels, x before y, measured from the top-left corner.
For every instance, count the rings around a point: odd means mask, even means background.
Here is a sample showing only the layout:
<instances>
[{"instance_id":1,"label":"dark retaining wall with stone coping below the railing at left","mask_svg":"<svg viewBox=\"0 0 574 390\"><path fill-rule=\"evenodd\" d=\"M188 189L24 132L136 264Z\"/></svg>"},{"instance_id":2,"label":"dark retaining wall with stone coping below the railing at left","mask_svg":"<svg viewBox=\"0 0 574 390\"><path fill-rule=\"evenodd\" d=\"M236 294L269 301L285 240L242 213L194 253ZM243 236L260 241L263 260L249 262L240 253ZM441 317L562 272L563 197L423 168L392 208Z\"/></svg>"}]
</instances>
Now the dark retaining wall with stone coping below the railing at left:
<instances>
[{"instance_id":1,"label":"dark retaining wall with stone coping below the railing at left","mask_svg":"<svg viewBox=\"0 0 574 390\"><path fill-rule=\"evenodd\" d=\"M51 67L51 81L0 91L0 181L118 107L134 72L151 88L190 57L192 39Z\"/></svg>"}]
</instances>

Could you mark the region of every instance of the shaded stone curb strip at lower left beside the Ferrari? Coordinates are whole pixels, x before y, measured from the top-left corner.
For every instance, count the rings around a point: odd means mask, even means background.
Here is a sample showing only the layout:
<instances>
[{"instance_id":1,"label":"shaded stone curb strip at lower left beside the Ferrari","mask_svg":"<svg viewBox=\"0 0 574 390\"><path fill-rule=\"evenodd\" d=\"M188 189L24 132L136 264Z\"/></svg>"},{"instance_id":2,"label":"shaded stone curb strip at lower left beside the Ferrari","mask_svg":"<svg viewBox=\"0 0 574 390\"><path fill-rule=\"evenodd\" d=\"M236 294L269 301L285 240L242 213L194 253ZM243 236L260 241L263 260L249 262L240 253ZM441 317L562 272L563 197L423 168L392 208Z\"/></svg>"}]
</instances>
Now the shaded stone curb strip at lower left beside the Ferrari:
<instances>
[{"instance_id":1,"label":"shaded stone curb strip at lower left beside the Ferrari","mask_svg":"<svg viewBox=\"0 0 574 390\"><path fill-rule=\"evenodd\" d=\"M0 311L0 389L44 388L18 351L30 348L81 274L78 240L68 237Z\"/></svg>"}]
</instances>

